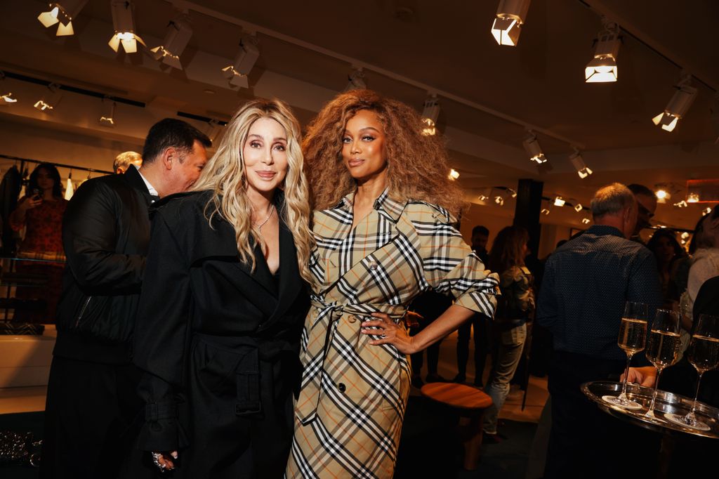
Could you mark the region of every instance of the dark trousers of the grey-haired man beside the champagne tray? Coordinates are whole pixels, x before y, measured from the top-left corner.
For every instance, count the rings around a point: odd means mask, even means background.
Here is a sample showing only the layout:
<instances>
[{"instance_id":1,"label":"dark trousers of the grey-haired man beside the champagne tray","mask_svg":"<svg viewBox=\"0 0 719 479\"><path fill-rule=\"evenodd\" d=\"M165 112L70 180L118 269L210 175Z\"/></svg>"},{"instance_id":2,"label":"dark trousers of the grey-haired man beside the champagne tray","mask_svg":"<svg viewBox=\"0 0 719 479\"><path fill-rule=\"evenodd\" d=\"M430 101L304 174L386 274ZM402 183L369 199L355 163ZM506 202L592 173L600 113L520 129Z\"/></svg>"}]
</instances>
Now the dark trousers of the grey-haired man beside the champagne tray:
<instances>
[{"instance_id":1,"label":"dark trousers of the grey-haired man beside the champagne tray","mask_svg":"<svg viewBox=\"0 0 719 479\"><path fill-rule=\"evenodd\" d=\"M620 374L625 365L623 360L554 352L545 479L656 477L659 434L600 411L580 390L582 383Z\"/></svg>"}]
</instances>

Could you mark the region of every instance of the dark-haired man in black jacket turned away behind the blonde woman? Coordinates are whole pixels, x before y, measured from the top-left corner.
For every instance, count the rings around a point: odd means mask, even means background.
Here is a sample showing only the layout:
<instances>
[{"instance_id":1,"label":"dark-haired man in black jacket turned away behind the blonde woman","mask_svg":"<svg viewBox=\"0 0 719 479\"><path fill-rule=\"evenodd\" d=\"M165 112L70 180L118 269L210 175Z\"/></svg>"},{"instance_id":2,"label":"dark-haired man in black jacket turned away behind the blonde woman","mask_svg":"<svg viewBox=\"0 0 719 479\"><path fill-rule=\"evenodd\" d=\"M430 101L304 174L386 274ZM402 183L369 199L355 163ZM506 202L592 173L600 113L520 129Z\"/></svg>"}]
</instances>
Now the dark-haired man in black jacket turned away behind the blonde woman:
<instances>
[{"instance_id":1,"label":"dark-haired man in black jacket turned away behind the blonde woman","mask_svg":"<svg viewBox=\"0 0 719 479\"><path fill-rule=\"evenodd\" d=\"M70 201L42 478L111 478L118 459L139 454L131 441L144 403L131 345L150 243L148 207L191 188L210 145L190 124L163 119L147 134L139 170L88 180Z\"/></svg>"}]
</instances>

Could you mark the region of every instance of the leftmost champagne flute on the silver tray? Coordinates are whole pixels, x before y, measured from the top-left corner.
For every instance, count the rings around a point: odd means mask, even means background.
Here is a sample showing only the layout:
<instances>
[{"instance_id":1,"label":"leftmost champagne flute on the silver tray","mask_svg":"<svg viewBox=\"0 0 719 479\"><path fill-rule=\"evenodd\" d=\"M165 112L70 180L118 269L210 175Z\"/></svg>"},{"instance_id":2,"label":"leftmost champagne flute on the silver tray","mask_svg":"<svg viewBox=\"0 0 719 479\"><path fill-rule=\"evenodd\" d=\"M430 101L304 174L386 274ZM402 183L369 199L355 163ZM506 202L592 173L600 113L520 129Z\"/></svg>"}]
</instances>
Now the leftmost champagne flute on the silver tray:
<instances>
[{"instance_id":1,"label":"leftmost champagne flute on the silver tray","mask_svg":"<svg viewBox=\"0 0 719 479\"><path fill-rule=\"evenodd\" d=\"M604 401L615 406L626 409L641 409L641 404L632 401L627 397L627 375L629 372L629 363L631 357L637 352L644 350L646 344L646 323L648 319L649 306L644 303L635 303L627 301L624 306L624 314L619 324L619 337L617 344L626 352L627 365L624 369L624 381L622 383L622 392L619 396L607 394L602 396Z\"/></svg>"}]
</instances>

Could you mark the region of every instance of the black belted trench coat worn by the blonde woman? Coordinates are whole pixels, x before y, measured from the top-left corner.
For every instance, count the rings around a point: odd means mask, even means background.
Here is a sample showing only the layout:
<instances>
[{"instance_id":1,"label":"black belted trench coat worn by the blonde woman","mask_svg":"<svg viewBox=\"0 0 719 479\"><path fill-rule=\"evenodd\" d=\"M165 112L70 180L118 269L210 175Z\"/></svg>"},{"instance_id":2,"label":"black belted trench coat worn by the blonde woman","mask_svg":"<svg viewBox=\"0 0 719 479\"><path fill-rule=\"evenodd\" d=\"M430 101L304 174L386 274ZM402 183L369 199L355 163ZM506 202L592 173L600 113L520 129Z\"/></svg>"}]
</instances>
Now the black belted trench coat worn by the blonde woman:
<instances>
[{"instance_id":1,"label":"black belted trench coat worn by the blonde woman","mask_svg":"<svg viewBox=\"0 0 719 479\"><path fill-rule=\"evenodd\" d=\"M179 450L175 478L281 478L292 438L309 300L280 221L280 269L255 270L234 229L205 216L209 192L160 202L135 327L147 406L138 447ZM283 217L283 197L277 209Z\"/></svg>"}]
</instances>

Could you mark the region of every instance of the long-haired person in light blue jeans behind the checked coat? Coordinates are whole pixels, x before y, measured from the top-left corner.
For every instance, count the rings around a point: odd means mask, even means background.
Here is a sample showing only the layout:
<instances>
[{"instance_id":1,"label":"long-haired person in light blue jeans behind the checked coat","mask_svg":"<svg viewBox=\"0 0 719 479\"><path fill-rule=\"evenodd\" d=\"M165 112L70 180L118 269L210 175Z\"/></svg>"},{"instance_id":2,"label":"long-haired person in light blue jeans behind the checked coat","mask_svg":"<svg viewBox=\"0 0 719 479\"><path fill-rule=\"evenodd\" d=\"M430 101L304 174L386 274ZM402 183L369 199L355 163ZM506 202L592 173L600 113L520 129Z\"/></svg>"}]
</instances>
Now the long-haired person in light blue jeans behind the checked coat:
<instances>
[{"instance_id":1,"label":"long-haired person in light blue jeans behind the checked coat","mask_svg":"<svg viewBox=\"0 0 719 479\"><path fill-rule=\"evenodd\" d=\"M485 413L485 434L497 436L497 419L510 390L527 336L526 323L534 312L532 277L524 263L529 233L523 227L505 227L495 237L490 251L490 270L499 273L497 313L492 323L492 371L487 394L493 405ZM487 438L489 439L489 438Z\"/></svg>"}]
</instances>

